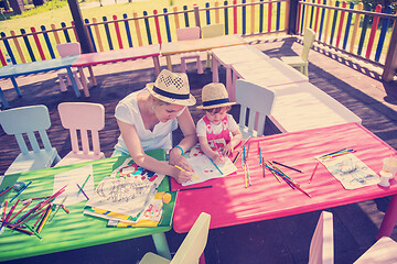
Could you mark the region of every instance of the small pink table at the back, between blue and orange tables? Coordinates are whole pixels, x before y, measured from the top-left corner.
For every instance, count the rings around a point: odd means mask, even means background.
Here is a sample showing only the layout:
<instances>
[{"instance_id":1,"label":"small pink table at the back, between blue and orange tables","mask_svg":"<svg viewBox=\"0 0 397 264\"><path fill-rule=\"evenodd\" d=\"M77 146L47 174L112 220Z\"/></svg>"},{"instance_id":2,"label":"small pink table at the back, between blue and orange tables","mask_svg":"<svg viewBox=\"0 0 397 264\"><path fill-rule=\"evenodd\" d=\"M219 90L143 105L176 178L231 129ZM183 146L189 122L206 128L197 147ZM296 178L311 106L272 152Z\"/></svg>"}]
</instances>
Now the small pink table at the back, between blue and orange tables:
<instances>
[{"instance_id":1,"label":"small pink table at the back, between blue and orange tables","mask_svg":"<svg viewBox=\"0 0 397 264\"><path fill-rule=\"evenodd\" d=\"M148 46L138 46L138 47L129 47L129 48L114 50L107 52L82 54L82 56L72 65L72 67L78 67L78 72L81 76L84 76L83 67L88 66L90 81L95 86L96 79L92 68L92 66L94 65L152 57L155 75L159 75L160 73L159 56L160 56L160 45L153 44ZM86 78L82 77L82 84L83 84L84 95L86 97L89 97Z\"/></svg>"}]
</instances>

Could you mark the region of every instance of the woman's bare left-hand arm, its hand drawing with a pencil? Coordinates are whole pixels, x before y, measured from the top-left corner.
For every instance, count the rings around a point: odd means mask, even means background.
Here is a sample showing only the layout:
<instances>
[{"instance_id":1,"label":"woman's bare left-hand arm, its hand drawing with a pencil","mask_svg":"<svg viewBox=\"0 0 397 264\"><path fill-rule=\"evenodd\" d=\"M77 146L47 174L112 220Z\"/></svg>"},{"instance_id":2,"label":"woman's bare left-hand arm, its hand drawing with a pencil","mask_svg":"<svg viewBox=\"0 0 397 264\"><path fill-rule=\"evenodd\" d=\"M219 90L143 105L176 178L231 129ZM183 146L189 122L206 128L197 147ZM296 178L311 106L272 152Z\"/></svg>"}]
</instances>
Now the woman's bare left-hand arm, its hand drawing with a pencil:
<instances>
[{"instance_id":1,"label":"woman's bare left-hand arm, its hand drawing with a pencil","mask_svg":"<svg viewBox=\"0 0 397 264\"><path fill-rule=\"evenodd\" d=\"M137 134L137 130L132 124L122 122L120 120L117 120L117 124L120 129L122 140L126 143L128 152L131 155L133 162L137 163L138 166L159 174L170 175L174 177L176 182L180 184L191 179L192 177L191 173L182 172L173 166L170 166L165 162L160 162L144 154L142 144Z\"/></svg>"}]
</instances>

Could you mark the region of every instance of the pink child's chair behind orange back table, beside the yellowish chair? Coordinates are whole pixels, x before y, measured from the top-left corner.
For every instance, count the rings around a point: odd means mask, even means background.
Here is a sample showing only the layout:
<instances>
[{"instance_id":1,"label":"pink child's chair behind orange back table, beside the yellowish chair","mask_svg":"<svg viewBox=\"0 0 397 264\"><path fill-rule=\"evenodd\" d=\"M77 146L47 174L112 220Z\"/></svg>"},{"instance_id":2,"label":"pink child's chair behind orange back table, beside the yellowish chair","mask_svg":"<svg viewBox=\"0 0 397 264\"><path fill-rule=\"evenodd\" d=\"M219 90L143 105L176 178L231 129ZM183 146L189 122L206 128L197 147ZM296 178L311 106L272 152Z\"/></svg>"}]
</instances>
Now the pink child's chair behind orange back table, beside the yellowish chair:
<instances>
[{"instance_id":1,"label":"pink child's chair behind orange back table, beside the yellowish chair","mask_svg":"<svg viewBox=\"0 0 397 264\"><path fill-rule=\"evenodd\" d=\"M200 28L183 28L176 29L176 37L178 41L190 41L190 40L197 40L200 38ZM197 74L203 74L203 65L201 64L200 53L192 52L192 53L182 53L181 54L181 72L186 73L186 59L196 59L197 62Z\"/></svg>"}]
</instances>

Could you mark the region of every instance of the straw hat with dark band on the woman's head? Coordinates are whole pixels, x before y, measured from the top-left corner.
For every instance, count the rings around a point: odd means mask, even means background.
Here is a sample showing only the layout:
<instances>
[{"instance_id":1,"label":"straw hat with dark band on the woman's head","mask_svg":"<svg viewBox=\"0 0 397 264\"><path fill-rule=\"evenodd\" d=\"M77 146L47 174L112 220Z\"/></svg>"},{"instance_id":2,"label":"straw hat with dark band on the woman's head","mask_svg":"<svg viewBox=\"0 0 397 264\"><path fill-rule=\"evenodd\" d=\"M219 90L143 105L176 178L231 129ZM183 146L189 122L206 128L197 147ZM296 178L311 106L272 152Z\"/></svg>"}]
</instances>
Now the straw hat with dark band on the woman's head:
<instances>
[{"instance_id":1,"label":"straw hat with dark band on the woman's head","mask_svg":"<svg viewBox=\"0 0 397 264\"><path fill-rule=\"evenodd\" d=\"M157 99L179 106L193 106L195 98L190 94L186 74L161 70L155 82L147 84L146 88Z\"/></svg>"}]
</instances>

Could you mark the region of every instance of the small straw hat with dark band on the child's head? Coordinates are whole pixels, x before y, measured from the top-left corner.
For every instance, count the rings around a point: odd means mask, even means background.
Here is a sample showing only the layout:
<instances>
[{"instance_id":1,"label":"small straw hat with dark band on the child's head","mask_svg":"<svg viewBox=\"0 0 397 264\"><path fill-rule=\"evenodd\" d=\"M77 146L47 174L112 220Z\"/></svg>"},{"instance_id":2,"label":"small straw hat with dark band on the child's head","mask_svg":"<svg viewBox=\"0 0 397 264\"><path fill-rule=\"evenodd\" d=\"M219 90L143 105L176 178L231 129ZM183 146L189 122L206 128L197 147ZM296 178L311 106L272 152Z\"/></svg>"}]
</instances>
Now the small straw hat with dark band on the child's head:
<instances>
[{"instance_id":1,"label":"small straw hat with dark band on the child's head","mask_svg":"<svg viewBox=\"0 0 397 264\"><path fill-rule=\"evenodd\" d=\"M236 102L229 101L226 87L221 82L211 82L204 86L202 90L202 100L203 106L198 106L198 109L211 109L236 105Z\"/></svg>"}]
</instances>

